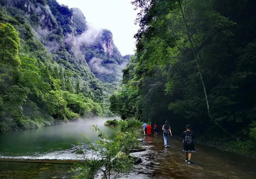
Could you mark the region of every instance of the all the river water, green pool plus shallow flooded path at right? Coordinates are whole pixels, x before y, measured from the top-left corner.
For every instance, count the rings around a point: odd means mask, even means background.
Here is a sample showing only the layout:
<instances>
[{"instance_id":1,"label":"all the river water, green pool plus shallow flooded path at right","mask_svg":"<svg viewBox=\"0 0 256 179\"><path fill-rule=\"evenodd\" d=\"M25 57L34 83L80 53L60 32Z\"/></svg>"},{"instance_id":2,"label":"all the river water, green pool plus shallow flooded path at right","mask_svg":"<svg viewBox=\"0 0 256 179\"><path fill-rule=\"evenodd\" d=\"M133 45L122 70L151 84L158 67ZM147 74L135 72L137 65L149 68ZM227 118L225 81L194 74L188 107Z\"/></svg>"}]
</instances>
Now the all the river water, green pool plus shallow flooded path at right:
<instances>
[{"instance_id":1,"label":"all the river water, green pool plus shallow flooded path at right","mask_svg":"<svg viewBox=\"0 0 256 179\"><path fill-rule=\"evenodd\" d=\"M34 130L0 133L0 178L38 179L72 178L68 170L75 160L77 141L82 134L90 141L98 140L90 128L98 125L110 138L113 130L104 126L105 119L93 119L79 123L55 125ZM170 139L169 147L163 147L162 136L143 136L146 151L134 153L143 162L134 167L128 178L255 178L254 161L208 146L196 145L193 163L184 160L182 142ZM87 148L87 145L84 144ZM88 149L87 155L90 155Z\"/></svg>"}]
</instances>

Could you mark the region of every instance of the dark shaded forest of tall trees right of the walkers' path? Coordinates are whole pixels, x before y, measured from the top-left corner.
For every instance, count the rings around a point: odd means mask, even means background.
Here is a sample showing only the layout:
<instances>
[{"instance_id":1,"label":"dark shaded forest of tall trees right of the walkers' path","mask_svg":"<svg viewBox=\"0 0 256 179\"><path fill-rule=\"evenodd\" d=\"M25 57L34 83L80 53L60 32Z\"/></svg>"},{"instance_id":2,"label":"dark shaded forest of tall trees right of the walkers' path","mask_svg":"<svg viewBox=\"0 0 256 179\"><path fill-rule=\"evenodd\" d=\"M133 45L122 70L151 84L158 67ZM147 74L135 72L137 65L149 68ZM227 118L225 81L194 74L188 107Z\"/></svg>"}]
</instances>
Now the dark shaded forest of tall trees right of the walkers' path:
<instances>
[{"instance_id":1,"label":"dark shaded forest of tall trees right of the walkers' path","mask_svg":"<svg viewBox=\"0 0 256 179\"><path fill-rule=\"evenodd\" d=\"M255 154L256 2L136 0L136 56L111 110Z\"/></svg>"}]
</instances>

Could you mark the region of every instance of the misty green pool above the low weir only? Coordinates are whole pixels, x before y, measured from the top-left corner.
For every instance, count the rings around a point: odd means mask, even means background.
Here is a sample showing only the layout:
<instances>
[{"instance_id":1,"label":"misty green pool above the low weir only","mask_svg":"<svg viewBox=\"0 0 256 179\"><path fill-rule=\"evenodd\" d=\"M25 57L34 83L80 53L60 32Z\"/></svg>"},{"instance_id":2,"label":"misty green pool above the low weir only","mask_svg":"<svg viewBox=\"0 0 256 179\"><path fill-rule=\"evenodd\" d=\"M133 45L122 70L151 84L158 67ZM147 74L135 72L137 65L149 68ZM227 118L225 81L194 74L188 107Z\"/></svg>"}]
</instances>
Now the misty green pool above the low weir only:
<instances>
[{"instance_id":1,"label":"misty green pool above the low weir only","mask_svg":"<svg viewBox=\"0 0 256 179\"><path fill-rule=\"evenodd\" d=\"M98 135L90 130L91 126L95 124L110 138L113 137L113 129L104 126L104 123L106 120L114 118L117 117L92 117L63 125L2 132L0 133L0 158L82 159L82 156L76 154L78 141L83 144L87 155L91 153L88 145L84 143L82 135L88 137L91 142L98 141Z\"/></svg>"}]
</instances>

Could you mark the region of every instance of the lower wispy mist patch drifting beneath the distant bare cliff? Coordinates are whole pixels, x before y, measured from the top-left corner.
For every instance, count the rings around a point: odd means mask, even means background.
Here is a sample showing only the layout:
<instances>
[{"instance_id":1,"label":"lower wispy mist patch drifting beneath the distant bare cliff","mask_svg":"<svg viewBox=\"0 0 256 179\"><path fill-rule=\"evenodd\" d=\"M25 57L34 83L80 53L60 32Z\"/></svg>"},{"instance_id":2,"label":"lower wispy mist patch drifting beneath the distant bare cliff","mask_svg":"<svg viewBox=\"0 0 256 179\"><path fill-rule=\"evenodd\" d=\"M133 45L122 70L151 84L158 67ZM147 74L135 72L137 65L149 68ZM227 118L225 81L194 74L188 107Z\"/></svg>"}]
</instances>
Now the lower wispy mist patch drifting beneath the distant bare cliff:
<instances>
[{"instance_id":1,"label":"lower wispy mist patch drifting beneath the distant bare cliff","mask_svg":"<svg viewBox=\"0 0 256 179\"><path fill-rule=\"evenodd\" d=\"M89 61L88 64L89 64L90 68L92 69L92 71L95 70L95 71L97 71L98 73L101 73L101 74L113 74L114 71L102 66L102 62L103 62L102 59L93 57Z\"/></svg>"}]
</instances>

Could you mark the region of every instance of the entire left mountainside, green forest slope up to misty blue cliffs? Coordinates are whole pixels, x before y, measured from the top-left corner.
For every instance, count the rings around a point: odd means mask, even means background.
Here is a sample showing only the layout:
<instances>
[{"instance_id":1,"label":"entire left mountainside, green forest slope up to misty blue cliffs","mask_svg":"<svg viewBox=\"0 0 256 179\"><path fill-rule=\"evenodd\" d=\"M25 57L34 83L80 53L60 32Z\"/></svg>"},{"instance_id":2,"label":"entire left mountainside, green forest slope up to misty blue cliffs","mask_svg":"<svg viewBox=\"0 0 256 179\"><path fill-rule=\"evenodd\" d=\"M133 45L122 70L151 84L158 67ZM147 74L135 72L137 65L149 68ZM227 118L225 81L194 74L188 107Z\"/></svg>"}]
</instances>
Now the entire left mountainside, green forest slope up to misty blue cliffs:
<instances>
[{"instance_id":1,"label":"entire left mountainside, green forest slope up to misty blue cliffs","mask_svg":"<svg viewBox=\"0 0 256 179\"><path fill-rule=\"evenodd\" d=\"M129 62L109 30L56 0L0 0L0 131L111 116Z\"/></svg>"}]
</instances>

